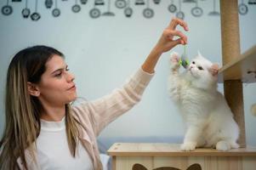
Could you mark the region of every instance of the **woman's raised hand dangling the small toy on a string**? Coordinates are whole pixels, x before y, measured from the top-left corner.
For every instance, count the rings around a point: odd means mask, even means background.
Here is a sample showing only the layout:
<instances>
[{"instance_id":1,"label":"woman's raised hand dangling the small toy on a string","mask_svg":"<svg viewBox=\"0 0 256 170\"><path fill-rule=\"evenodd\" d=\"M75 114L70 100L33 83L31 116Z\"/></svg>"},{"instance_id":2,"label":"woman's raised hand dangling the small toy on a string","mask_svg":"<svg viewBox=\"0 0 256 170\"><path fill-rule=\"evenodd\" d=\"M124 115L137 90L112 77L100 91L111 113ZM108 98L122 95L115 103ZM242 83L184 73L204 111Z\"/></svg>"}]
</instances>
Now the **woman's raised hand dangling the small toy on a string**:
<instances>
[{"instance_id":1,"label":"woman's raised hand dangling the small toy on a string","mask_svg":"<svg viewBox=\"0 0 256 170\"><path fill-rule=\"evenodd\" d=\"M178 44L185 45L187 43L187 37L181 31L176 30L176 26L182 26L185 31L189 30L184 20L179 20L177 18L171 20L169 26L162 32L162 37L160 37L156 43L154 50L156 50L157 53L162 54ZM174 39L174 37L179 38Z\"/></svg>"}]
</instances>

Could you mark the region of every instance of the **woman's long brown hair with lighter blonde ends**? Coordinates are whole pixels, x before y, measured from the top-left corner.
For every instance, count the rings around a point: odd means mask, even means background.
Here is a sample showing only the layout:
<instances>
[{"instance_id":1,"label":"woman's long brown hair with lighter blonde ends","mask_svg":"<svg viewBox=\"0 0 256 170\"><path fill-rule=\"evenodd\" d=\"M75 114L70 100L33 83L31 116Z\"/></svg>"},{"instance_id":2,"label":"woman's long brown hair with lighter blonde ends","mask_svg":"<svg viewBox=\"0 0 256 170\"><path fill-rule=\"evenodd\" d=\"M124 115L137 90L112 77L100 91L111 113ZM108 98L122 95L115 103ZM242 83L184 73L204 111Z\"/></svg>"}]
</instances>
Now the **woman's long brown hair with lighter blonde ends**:
<instances>
[{"instance_id":1,"label":"woman's long brown hair with lighter blonde ends","mask_svg":"<svg viewBox=\"0 0 256 170\"><path fill-rule=\"evenodd\" d=\"M21 50L11 60L6 81L5 128L0 141L0 169L19 168L19 157L27 169L26 150L29 150L33 160L36 160L33 146L40 133L40 114L43 106L37 97L28 93L27 82L40 82L46 70L46 62L54 54L64 58L64 55L54 48L34 46ZM69 149L75 157L79 135L78 122L72 116L70 108L69 104L65 105L65 127Z\"/></svg>"}]
</instances>

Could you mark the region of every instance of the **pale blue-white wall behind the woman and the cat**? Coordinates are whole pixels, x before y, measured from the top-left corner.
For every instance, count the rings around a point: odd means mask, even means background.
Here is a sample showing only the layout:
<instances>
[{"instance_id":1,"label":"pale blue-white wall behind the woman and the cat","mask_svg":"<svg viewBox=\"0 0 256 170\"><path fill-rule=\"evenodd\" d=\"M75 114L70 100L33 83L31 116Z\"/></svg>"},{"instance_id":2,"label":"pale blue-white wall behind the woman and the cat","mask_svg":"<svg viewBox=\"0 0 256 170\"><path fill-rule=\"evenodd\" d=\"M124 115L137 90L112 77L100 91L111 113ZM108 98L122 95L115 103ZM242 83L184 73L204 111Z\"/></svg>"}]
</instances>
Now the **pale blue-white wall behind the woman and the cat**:
<instances>
[{"instance_id":1,"label":"pale blue-white wall behind the woman and the cat","mask_svg":"<svg viewBox=\"0 0 256 170\"><path fill-rule=\"evenodd\" d=\"M0 1L0 7L5 3L6 1ZM3 133L6 71L10 59L20 49L36 44L59 49L65 54L71 71L77 77L78 94L87 99L97 99L110 93L113 88L120 87L139 68L174 16L167 9L170 1L164 0L158 6L151 3L155 16L150 20L141 14L145 7L135 7L134 3L134 15L130 19L124 17L123 11L112 4L112 11L116 16L102 16L96 20L88 16L88 10L93 8L92 1L82 6L82 11L78 14L71 12L74 1L59 1L59 18L54 18L43 3L44 1L38 3L38 12L42 18L37 22L21 17L20 11L25 3L10 3L14 13L10 16L0 14L0 134ZM219 17L208 16L213 9L212 5L212 1L199 1L204 14L201 18L195 18L191 15L194 5L183 4L185 20L190 27L187 33L187 52L194 56L199 49L205 57L221 65L220 20ZM219 7L219 3L217 5ZM34 8L34 1L29 1L29 7ZM240 16L242 52L256 44L255 8L256 6L249 6L248 14ZM102 12L106 10L105 7L100 9ZM182 49L174 48L179 53ZM168 98L169 54L162 55L156 66L156 76L139 105L106 127L101 133L102 137L183 135L179 113ZM222 91L222 84L219 84L219 90ZM255 94L256 83L244 85L247 144L253 145L256 145L256 117L251 115L249 108L256 102Z\"/></svg>"}]
</instances>

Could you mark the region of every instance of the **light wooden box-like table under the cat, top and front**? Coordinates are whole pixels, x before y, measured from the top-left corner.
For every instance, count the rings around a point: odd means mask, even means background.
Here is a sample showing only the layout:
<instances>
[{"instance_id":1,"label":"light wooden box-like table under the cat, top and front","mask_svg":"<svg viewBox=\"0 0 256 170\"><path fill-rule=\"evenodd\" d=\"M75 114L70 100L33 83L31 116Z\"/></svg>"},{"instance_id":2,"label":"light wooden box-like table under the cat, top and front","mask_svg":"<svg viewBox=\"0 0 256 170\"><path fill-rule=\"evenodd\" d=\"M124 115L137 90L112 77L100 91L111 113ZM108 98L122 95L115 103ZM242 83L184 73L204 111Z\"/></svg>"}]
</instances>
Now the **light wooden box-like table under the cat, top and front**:
<instances>
[{"instance_id":1,"label":"light wooden box-like table under the cat, top and front","mask_svg":"<svg viewBox=\"0 0 256 170\"><path fill-rule=\"evenodd\" d=\"M115 143L108 150L108 154L112 156L112 170L132 170L135 163L143 165L148 170L156 167L176 167L185 170L195 163L203 170L256 169L256 147L229 151L181 151L179 144Z\"/></svg>"}]
</instances>

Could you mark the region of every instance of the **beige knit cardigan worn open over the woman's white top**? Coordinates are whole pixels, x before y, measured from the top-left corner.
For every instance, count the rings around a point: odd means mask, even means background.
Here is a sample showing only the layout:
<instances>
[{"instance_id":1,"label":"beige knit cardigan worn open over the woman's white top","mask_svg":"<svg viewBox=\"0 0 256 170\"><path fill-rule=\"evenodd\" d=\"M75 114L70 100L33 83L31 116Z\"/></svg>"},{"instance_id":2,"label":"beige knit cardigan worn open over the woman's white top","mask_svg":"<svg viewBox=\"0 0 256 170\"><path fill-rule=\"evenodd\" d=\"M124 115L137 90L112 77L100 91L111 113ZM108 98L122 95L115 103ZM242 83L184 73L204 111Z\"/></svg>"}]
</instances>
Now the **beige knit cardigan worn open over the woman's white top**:
<instances>
[{"instance_id":1,"label":"beige knit cardigan worn open over the woman's white top","mask_svg":"<svg viewBox=\"0 0 256 170\"><path fill-rule=\"evenodd\" d=\"M105 126L139 102L151 77L153 74L139 68L139 71L122 88L116 89L100 99L72 107L74 116L82 124L79 139L88 151L88 155L91 156L95 170L102 169L97 136ZM26 160L29 170L40 169L37 163L32 161L28 151L26 151ZM25 169L20 158L17 161L20 169Z\"/></svg>"}]
</instances>

